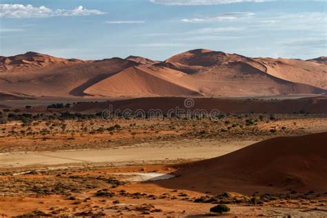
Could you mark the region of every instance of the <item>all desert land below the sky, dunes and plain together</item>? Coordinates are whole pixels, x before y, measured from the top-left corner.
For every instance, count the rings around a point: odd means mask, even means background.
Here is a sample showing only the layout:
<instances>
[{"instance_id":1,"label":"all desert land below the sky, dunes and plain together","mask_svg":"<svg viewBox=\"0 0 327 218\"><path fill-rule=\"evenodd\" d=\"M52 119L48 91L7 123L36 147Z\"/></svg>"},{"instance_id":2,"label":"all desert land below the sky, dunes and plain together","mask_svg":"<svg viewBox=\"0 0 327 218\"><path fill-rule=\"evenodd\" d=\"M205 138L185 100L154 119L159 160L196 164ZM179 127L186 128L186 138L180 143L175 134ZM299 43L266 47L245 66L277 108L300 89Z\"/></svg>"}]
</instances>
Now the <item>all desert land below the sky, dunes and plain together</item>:
<instances>
[{"instance_id":1,"label":"all desert land below the sky, dunes and plain together","mask_svg":"<svg viewBox=\"0 0 327 218\"><path fill-rule=\"evenodd\" d=\"M325 57L28 52L0 84L3 217L327 216Z\"/></svg>"}]
</instances>

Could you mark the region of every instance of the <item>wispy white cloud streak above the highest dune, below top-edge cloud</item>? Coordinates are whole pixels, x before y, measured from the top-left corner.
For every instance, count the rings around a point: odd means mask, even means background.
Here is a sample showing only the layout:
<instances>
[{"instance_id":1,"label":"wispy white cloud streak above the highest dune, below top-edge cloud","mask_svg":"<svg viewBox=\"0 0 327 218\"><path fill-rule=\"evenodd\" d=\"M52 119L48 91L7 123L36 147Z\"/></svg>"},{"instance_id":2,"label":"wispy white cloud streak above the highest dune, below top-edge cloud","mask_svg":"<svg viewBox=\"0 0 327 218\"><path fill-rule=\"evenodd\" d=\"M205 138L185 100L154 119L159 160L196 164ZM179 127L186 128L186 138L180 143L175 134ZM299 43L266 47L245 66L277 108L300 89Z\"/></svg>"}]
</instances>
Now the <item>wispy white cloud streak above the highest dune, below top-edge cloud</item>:
<instances>
[{"instance_id":1,"label":"wispy white cloud streak above the highest dune, below top-edge cloud","mask_svg":"<svg viewBox=\"0 0 327 218\"><path fill-rule=\"evenodd\" d=\"M252 17L255 13L252 12L230 12L219 14L215 17L197 17L191 19L181 19L186 23L204 23L204 22L221 22L221 21L234 21L239 18Z\"/></svg>"}]
</instances>

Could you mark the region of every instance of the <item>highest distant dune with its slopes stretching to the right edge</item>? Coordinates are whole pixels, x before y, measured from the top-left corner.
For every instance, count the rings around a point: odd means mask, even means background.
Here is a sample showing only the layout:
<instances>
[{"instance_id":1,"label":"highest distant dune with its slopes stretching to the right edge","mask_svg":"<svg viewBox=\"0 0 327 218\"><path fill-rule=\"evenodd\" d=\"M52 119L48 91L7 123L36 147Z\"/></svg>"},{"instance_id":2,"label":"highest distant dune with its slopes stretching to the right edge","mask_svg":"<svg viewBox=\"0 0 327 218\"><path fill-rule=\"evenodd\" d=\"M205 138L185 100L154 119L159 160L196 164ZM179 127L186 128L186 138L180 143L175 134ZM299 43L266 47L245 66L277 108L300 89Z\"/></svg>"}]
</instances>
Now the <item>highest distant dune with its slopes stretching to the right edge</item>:
<instances>
[{"instance_id":1,"label":"highest distant dune with its slopes stretching to the right edge","mask_svg":"<svg viewBox=\"0 0 327 218\"><path fill-rule=\"evenodd\" d=\"M244 93L252 91L252 95L258 95L259 92L261 95L266 95L265 92L278 95L278 93L283 94L282 92L284 94L292 92L293 94L296 92L321 93L326 92L327 88L326 65L312 61L252 59L239 54L198 49L177 54L161 65L186 73L191 72L200 80L215 81L215 85L223 87L220 92L224 96L228 94L224 93L226 90L229 90L230 93L235 92L237 95L241 95L241 91ZM251 83L256 84L257 90ZM315 86L320 90L303 84ZM252 86L252 90L247 90L249 86ZM215 88L210 88L210 92L212 90ZM218 92L215 94L217 95Z\"/></svg>"}]
</instances>

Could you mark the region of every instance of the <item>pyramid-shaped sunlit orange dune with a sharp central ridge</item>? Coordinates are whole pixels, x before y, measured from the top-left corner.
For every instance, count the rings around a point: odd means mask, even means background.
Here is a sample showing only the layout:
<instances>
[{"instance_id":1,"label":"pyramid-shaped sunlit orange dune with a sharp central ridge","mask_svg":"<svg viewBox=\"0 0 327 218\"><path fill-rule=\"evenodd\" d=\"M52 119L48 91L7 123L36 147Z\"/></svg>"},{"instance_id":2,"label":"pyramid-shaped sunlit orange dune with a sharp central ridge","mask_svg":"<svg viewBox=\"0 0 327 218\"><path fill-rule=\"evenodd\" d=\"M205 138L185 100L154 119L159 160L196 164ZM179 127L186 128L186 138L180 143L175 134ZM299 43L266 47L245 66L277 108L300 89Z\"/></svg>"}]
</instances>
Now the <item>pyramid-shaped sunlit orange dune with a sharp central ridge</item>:
<instances>
[{"instance_id":1,"label":"pyramid-shaped sunlit orange dune with a sharp central ridge","mask_svg":"<svg viewBox=\"0 0 327 218\"><path fill-rule=\"evenodd\" d=\"M187 75L173 71L131 67L96 83L84 90L84 93L107 97L200 96L199 92L183 86L179 81Z\"/></svg>"}]
</instances>

